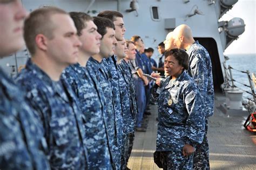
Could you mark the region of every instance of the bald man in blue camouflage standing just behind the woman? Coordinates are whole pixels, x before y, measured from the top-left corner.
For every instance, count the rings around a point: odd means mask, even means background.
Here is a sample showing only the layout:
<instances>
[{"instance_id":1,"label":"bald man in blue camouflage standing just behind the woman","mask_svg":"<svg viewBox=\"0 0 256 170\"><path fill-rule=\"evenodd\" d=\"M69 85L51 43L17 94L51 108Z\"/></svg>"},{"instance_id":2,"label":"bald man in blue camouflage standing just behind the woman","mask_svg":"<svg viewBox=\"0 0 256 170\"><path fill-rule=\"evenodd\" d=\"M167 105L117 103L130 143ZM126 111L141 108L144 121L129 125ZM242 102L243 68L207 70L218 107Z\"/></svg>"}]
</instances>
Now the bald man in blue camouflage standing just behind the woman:
<instances>
[{"instance_id":1,"label":"bald man in blue camouflage standing just behind the woman","mask_svg":"<svg viewBox=\"0 0 256 170\"><path fill-rule=\"evenodd\" d=\"M174 31L174 44L181 49L186 49L188 60L188 74L196 82L201 97L205 104L205 137L201 145L196 146L194 153L194 169L210 169L209 145L207 139L208 117L213 115L214 111L214 89L212 78L211 58L207 50L195 41L192 31L187 25L179 25Z\"/></svg>"}]
</instances>

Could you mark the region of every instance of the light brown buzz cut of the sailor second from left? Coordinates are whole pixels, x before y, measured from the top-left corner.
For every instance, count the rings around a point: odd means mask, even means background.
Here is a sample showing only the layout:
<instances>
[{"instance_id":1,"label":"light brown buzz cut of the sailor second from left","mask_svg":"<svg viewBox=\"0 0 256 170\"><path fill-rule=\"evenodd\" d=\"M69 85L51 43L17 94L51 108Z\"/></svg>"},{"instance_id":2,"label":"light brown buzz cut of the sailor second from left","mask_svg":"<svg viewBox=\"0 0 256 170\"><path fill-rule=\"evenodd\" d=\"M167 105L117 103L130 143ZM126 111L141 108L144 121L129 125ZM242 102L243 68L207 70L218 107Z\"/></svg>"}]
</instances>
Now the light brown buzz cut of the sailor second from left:
<instances>
[{"instance_id":1,"label":"light brown buzz cut of the sailor second from left","mask_svg":"<svg viewBox=\"0 0 256 170\"><path fill-rule=\"evenodd\" d=\"M24 23L24 39L29 52L33 56L36 53L36 36L43 34L49 39L53 39L53 31L56 29L55 23L52 22L51 16L55 14L66 14L68 12L53 7L43 6L42 8L32 11Z\"/></svg>"}]
</instances>

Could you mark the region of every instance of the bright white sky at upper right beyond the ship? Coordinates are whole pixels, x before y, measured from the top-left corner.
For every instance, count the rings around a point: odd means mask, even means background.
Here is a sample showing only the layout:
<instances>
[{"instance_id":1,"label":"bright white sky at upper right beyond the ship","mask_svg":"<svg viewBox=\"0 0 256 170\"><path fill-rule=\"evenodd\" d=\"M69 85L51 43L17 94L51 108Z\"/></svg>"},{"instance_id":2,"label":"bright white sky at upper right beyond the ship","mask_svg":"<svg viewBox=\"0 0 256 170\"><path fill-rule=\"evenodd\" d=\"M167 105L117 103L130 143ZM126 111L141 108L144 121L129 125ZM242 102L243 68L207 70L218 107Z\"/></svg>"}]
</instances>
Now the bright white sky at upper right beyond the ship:
<instances>
[{"instance_id":1,"label":"bright white sky at upper right beyond the ship","mask_svg":"<svg viewBox=\"0 0 256 170\"><path fill-rule=\"evenodd\" d=\"M239 53L256 54L256 0L239 0L220 21L230 21L234 17L244 19L245 32L227 47L225 55Z\"/></svg>"}]
</instances>

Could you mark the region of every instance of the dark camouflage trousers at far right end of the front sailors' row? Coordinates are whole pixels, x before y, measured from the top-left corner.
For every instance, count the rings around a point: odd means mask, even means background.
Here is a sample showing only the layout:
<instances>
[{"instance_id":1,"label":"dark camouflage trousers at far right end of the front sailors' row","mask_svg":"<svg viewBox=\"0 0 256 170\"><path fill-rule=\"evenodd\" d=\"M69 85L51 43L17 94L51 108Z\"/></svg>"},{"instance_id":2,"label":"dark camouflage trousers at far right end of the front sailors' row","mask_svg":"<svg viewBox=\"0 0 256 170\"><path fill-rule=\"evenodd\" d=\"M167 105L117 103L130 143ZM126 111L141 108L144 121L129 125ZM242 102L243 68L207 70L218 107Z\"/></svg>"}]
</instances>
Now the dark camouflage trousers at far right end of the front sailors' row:
<instances>
[{"instance_id":1,"label":"dark camouflage trousers at far right end of the front sailors' row","mask_svg":"<svg viewBox=\"0 0 256 170\"><path fill-rule=\"evenodd\" d=\"M122 169L125 169L127 166L128 160L132 152L133 140L134 140L134 133L129 133L126 135L126 138L124 140L125 141L124 149L123 149L122 158L121 158Z\"/></svg>"}]
</instances>

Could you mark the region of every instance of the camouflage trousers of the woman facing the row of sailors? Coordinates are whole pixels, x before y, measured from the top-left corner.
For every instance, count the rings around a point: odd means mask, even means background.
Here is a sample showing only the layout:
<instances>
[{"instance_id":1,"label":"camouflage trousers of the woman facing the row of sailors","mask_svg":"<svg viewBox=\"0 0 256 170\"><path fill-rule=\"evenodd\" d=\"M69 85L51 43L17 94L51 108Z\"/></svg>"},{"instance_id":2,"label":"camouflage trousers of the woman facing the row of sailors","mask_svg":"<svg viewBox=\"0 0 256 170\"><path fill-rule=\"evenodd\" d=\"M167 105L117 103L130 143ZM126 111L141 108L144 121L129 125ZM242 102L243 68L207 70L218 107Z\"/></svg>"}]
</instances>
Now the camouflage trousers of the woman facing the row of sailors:
<instances>
[{"instance_id":1,"label":"camouflage trousers of the woman facing the row of sailors","mask_svg":"<svg viewBox=\"0 0 256 170\"><path fill-rule=\"evenodd\" d=\"M160 154L164 170L193 169L193 154L188 157L184 157L181 151L166 151Z\"/></svg>"}]
</instances>

